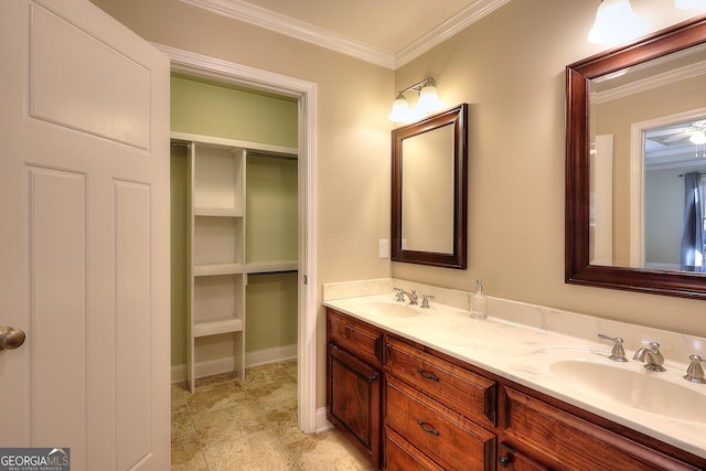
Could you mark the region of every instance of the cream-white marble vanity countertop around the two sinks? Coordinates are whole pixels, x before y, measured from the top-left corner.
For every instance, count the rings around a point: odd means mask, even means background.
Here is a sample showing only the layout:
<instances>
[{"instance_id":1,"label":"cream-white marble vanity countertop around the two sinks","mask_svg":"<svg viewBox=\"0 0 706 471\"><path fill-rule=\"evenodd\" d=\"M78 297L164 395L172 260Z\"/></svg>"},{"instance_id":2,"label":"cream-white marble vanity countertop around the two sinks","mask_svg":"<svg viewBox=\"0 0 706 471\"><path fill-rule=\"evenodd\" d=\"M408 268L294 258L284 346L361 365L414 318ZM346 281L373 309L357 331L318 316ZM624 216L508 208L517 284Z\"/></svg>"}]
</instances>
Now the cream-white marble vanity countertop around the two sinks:
<instances>
[{"instance_id":1,"label":"cream-white marble vanity countertop around the two sinks","mask_svg":"<svg viewBox=\"0 0 706 471\"><path fill-rule=\"evenodd\" d=\"M422 291L420 291L422 292ZM428 291L426 291L428 292ZM351 293L347 292L347 296ZM345 312L357 319L377 325L395 334L402 335L415 342L432 347L439 352L449 354L469 364L481 367L499 376L520 383L548 396L589 410L598 416L613 420L648 436L671 443L696 456L706 458L706 384L689 383L683 378L686 372L686 362L673 362L665 353L666 372L650 372L641 362L630 360L627 363L618 363L608 358L612 344L589 335L569 335L557 330L544 327L532 327L518 323L512 319L503 319L503 308L507 317L512 318L512 304L504 306L498 300L490 303L492 310L486 320L471 319L469 312L431 301L430 309L410 307L417 310L418 315L395 318L373 312L366 306L371 302L394 302L392 290L385 295L350 296L331 299L325 296L324 306ZM563 318L566 321L566 315ZM587 317L581 317L573 322L580 324L587 322ZM547 322L543 318L544 323ZM595 322L596 323L596 322ZM600 324L600 322L599 322ZM620 324L620 323L618 323ZM598 325L600 329L601 325ZM614 325L610 325L617 329ZM643 328L645 329L645 328ZM586 332L584 332L586 333ZM616 332L607 332L620 335ZM678 339L684 335L672 333ZM655 334L657 335L657 334ZM666 339L662 333L660 339ZM696 340L694 340L696 339ZM691 345L693 353L702 354L705 345L698 338L687 338L684 342ZM644 343L644 342L643 342ZM675 342L671 342L675 343ZM639 344L637 346L640 346ZM631 349L625 342L625 352L632 358L634 345ZM607 382L601 375L603 384L581 385L579 383L560 379L553 373L552 365L563 360L590 362L606 365L612 368L624 370L625 382ZM612 371L614 372L614 371ZM640 379L635 375L653 375L659 379L672 383L674 388L685 392L686 399L694 402L689 405L688 414L680 407L684 400L655 402L650 399L649 390L631 392L631 379ZM616 375L621 377L620 374ZM640 383L639 381L637 383ZM621 389L624 388L624 396ZM685 390L686 388L688 390ZM644 389L644 388L642 388ZM610 394L616 394L622 399L614 399ZM660 414L644 410L645 407L657 407ZM678 403L678 404L677 404ZM674 407L675 410L671 411ZM680 417L681 416L681 417Z\"/></svg>"}]
</instances>

